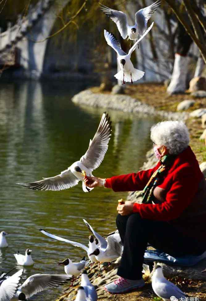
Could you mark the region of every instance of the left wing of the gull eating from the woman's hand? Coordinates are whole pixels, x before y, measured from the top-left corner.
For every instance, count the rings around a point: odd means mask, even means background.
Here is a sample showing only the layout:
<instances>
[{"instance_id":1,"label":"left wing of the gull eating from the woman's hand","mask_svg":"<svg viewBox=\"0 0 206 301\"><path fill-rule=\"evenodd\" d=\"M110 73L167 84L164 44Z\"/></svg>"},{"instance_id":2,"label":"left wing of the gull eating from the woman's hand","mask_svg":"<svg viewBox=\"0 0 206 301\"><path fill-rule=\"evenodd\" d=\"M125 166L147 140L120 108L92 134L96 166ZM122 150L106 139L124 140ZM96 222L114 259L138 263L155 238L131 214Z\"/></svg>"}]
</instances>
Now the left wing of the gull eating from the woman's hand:
<instances>
[{"instance_id":1,"label":"left wing of the gull eating from the woman's hand","mask_svg":"<svg viewBox=\"0 0 206 301\"><path fill-rule=\"evenodd\" d=\"M66 169L55 177L44 178L44 180L40 180L32 183L16 183L16 184L25 186L30 189L36 189L36 190L59 191L59 190L71 188L77 185L78 182L79 182L78 178L74 176L71 170Z\"/></svg>"}]
</instances>

